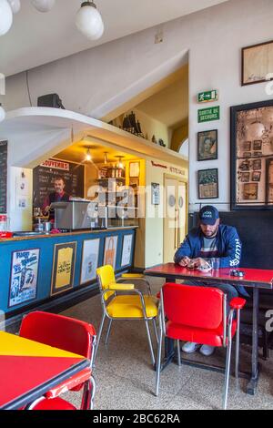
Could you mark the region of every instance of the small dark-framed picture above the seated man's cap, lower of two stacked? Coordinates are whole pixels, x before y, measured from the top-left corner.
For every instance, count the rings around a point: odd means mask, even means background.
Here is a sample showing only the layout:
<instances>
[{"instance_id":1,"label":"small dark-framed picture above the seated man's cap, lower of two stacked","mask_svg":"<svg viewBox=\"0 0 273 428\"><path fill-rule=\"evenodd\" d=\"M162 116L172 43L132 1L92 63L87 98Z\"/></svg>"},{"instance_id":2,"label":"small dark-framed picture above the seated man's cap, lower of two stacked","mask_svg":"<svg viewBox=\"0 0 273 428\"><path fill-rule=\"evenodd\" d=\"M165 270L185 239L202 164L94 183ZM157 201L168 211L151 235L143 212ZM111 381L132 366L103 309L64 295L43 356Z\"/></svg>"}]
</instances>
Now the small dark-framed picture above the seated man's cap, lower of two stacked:
<instances>
[{"instance_id":1,"label":"small dark-framed picture above the seated man's cap, lower of two stacked","mask_svg":"<svg viewBox=\"0 0 273 428\"><path fill-rule=\"evenodd\" d=\"M198 199L217 199L218 195L218 170L201 169L198 176Z\"/></svg>"}]
</instances>

